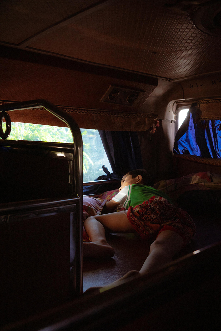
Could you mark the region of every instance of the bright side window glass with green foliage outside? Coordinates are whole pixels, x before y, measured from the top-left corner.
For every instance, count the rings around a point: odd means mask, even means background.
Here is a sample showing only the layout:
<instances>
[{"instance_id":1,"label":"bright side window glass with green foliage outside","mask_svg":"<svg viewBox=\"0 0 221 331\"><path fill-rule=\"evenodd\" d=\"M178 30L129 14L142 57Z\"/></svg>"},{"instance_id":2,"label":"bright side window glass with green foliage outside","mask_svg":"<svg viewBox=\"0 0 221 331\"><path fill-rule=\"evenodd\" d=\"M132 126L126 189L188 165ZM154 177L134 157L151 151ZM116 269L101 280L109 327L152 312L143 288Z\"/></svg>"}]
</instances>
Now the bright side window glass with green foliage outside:
<instances>
[{"instance_id":1,"label":"bright side window glass with green foliage outside","mask_svg":"<svg viewBox=\"0 0 221 331\"><path fill-rule=\"evenodd\" d=\"M2 124L5 131L5 122ZM80 129L83 139L83 181L93 181L105 175L102 165L112 172L98 130ZM12 122L10 140L48 141L73 143L71 130L67 127Z\"/></svg>"}]
</instances>

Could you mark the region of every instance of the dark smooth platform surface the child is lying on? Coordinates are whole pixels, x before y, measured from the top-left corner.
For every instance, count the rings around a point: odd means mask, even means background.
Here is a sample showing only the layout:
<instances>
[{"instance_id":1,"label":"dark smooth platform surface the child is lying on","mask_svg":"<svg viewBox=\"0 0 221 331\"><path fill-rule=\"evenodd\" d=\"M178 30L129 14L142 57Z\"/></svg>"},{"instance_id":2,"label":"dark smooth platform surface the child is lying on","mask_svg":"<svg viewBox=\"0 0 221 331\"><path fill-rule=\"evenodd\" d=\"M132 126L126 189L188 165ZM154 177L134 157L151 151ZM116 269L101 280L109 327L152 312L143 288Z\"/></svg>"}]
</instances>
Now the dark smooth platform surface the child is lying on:
<instances>
[{"instance_id":1,"label":"dark smooth platform surface the child is lying on","mask_svg":"<svg viewBox=\"0 0 221 331\"><path fill-rule=\"evenodd\" d=\"M174 260L221 240L220 213L190 215L196 225L196 234ZM130 270L140 270L148 256L151 242L141 239L137 233L108 234L106 238L115 255L109 259L83 259L83 292L92 286L108 285Z\"/></svg>"}]
</instances>

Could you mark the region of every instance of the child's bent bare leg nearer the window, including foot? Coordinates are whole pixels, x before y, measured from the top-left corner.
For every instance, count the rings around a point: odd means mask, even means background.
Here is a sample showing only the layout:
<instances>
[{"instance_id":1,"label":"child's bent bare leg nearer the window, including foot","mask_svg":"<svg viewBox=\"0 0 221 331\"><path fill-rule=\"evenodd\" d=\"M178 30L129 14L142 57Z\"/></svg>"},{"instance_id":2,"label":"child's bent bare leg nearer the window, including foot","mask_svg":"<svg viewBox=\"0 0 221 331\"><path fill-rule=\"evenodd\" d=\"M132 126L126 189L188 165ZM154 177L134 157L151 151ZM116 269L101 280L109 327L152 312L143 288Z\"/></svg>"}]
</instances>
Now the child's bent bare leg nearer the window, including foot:
<instances>
[{"instance_id":1,"label":"child's bent bare leg nearer the window, including foot","mask_svg":"<svg viewBox=\"0 0 221 331\"><path fill-rule=\"evenodd\" d=\"M105 231L108 233L135 232L123 212L91 216L85 219L83 225L91 239L91 243L83 243L84 257L102 258L114 255L114 249L106 241Z\"/></svg>"}]
</instances>

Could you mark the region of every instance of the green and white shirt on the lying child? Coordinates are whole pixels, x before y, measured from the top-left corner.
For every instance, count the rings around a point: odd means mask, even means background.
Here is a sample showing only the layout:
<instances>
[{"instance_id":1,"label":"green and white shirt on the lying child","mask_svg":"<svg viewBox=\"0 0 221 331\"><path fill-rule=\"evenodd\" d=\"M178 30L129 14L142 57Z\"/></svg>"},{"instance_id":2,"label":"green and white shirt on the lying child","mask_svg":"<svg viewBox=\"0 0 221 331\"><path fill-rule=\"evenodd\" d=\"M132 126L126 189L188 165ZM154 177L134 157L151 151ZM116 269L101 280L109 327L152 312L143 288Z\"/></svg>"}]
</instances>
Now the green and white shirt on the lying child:
<instances>
[{"instance_id":1,"label":"green and white shirt on the lying child","mask_svg":"<svg viewBox=\"0 0 221 331\"><path fill-rule=\"evenodd\" d=\"M152 196L162 197L167 199L171 204L172 200L162 191L158 191L151 186L143 184L132 184L125 186L122 190L112 198L113 201L119 202L118 208L128 209L136 207L144 201L149 200Z\"/></svg>"}]
</instances>

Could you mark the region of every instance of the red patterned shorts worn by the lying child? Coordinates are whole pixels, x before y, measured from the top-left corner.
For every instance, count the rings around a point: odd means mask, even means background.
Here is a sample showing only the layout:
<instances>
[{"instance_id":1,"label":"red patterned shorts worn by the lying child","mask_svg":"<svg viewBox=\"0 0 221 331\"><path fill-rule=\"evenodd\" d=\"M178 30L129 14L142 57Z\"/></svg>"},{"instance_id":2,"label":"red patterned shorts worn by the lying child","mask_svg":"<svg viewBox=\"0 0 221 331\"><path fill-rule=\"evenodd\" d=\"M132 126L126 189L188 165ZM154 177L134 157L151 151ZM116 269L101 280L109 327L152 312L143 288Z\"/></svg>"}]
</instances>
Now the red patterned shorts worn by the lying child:
<instances>
[{"instance_id":1,"label":"red patterned shorts worn by the lying child","mask_svg":"<svg viewBox=\"0 0 221 331\"><path fill-rule=\"evenodd\" d=\"M183 238L185 247L196 232L190 215L162 197L153 196L135 208L129 207L127 217L142 238L155 240L160 232L171 230Z\"/></svg>"}]
</instances>

